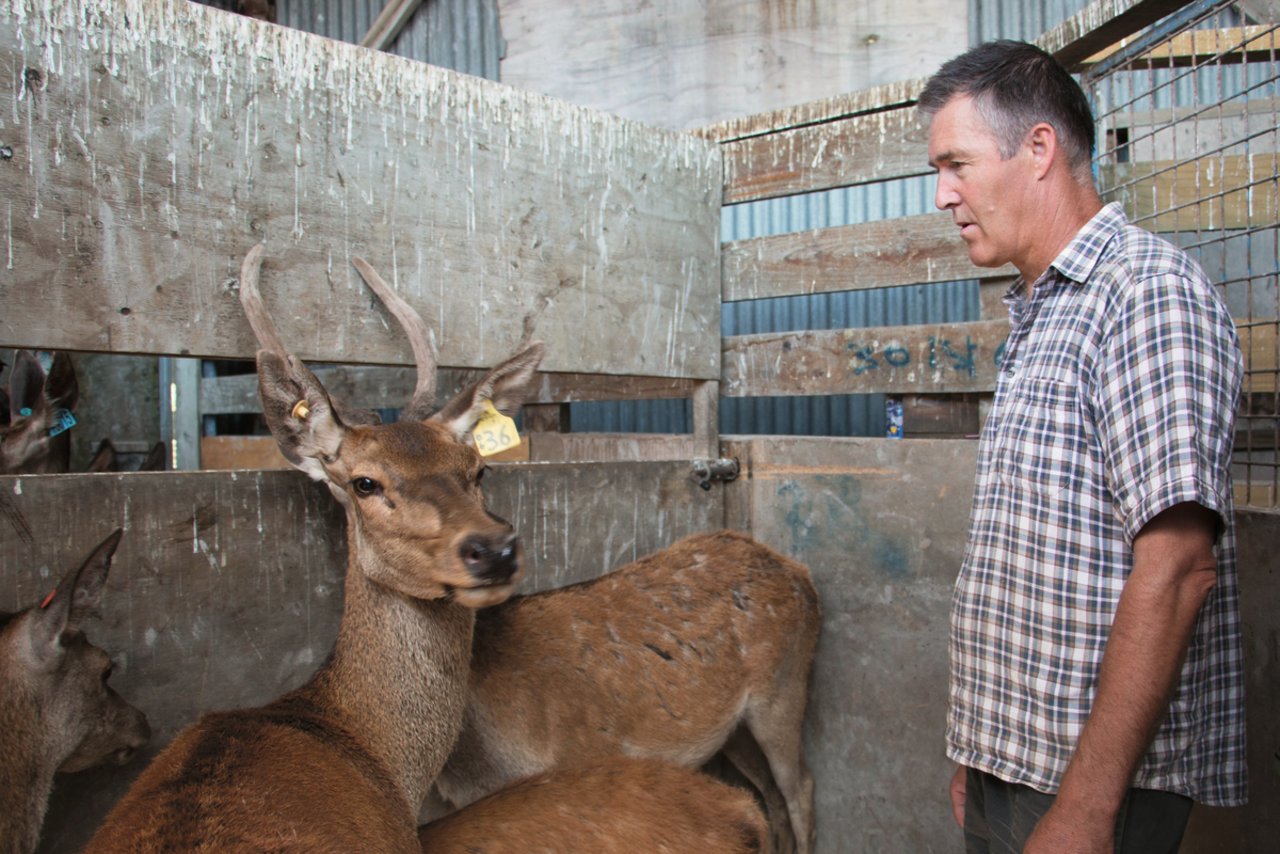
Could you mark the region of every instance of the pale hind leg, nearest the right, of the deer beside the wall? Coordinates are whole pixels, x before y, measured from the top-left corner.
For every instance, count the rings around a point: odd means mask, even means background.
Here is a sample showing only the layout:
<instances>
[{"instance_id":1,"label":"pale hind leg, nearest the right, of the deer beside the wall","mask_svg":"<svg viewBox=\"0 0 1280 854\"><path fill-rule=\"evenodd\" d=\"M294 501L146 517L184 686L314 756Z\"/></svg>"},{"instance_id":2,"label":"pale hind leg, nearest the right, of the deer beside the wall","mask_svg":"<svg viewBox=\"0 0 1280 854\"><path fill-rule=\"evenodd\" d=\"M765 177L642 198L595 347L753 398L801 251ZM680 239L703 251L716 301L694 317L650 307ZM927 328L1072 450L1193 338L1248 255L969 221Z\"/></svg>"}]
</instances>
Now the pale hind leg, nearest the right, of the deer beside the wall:
<instances>
[{"instance_id":1,"label":"pale hind leg, nearest the right, of the deer beside the wall","mask_svg":"<svg viewBox=\"0 0 1280 854\"><path fill-rule=\"evenodd\" d=\"M813 775L804 762L801 723L805 712L805 690L780 691L762 698L746 709L746 726L768 759L773 781L782 791L791 818L796 851L810 854L815 842L813 826Z\"/></svg>"}]
</instances>

